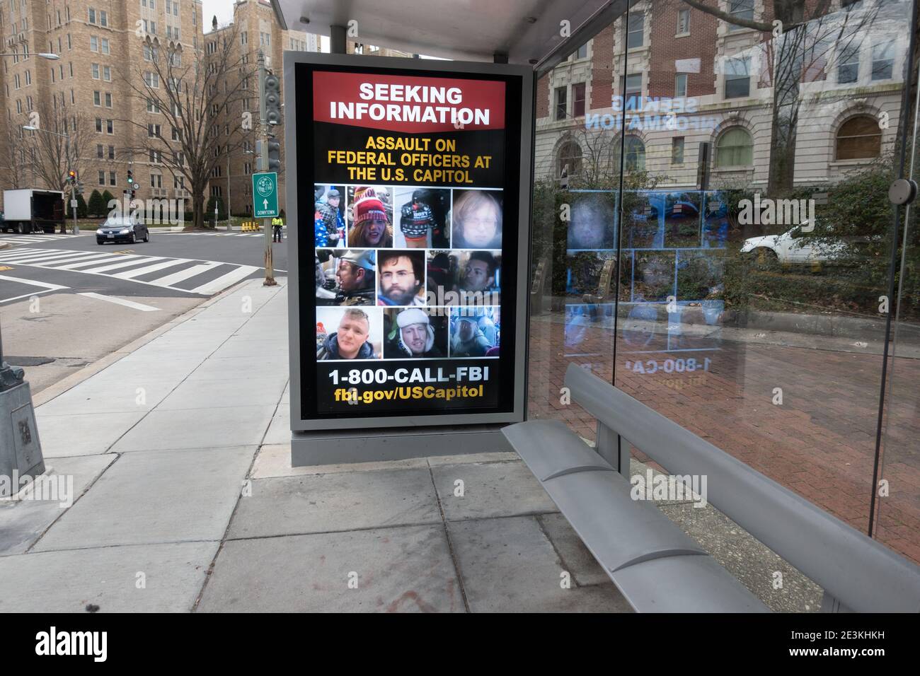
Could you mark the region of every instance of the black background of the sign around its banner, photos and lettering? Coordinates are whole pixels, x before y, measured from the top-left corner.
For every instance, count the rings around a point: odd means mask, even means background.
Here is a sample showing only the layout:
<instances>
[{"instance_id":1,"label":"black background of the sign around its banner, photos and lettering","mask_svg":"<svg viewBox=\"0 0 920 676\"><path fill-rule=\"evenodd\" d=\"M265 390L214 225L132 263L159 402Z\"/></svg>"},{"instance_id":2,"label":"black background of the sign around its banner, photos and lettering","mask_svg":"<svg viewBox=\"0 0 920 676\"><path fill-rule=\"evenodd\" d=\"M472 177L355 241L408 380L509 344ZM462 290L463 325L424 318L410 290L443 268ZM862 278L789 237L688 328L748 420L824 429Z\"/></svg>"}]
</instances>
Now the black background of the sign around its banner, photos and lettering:
<instances>
[{"instance_id":1,"label":"black background of the sign around its banner, photos and lettering","mask_svg":"<svg viewBox=\"0 0 920 676\"><path fill-rule=\"evenodd\" d=\"M502 284L501 289L501 349L498 359L477 360L374 360L358 361L351 364L346 361L323 362L316 361L316 287L315 275L312 269L314 261L315 237L313 226L314 184L317 182L329 183L337 175L329 167L322 176L316 175L316 165L322 166L317 153L325 149L323 142L319 141L322 133L322 123L315 123L313 119L313 73L327 71L331 73L356 73L356 74L393 74L418 77L457 77L471 80L491 80L505 84L505 129L504 147L490 147L492 155L502 155L500 166L500 183L482 186L501 188L503 190L503 215L502 221L506 227L502 229L501 263L503 279L508 283ZM402 68L368 68L363 66L332 66L318 63L296 63L294 72L297 96L297 201L298 201L298 259L301 261L299 274L299 295L301 299L300 322L300 401L301 417L304 419L329 419L329 418L369 418L369 417L407 417L413 418L412 424L419 424L418 418L426 415L439 414L475 414L475 413L509 413L514 405L514 354L517 349L525 346L516 344L517 313L519 302L525 303L526 299L517 297L516 280L518 266L526 265L526 260L518 259L520 222L520 171L529 171L530 167L517 166L517 158L521 156L521 112L522 88L519 77L505 74L466 74L462 72L412 70ZM368 131L364 131L366 136ZM489 132L477 132L486 133ZM449 135L447 132L445 135ZM402 134L411 136L412 134ZM428 134L434 136L434 134ZM361 146L358 146L360 149ZM490 178L490 177L489 177ZM340 182L354 183L353 180ZM389 181L390 184L424 185L408 181ZM450 185L450 184L442 184ZM459 184L456 184L459 185ZM477 184L466 184L467 188L477 188ZM526 233L523 234L526 236ZM384 369L388 375L395 374L399 369L434 369L442 368L444 371L454 372L458 366L470 365L475 362L477 366L489 366L489 382L464 382L464 383L408 383L396 386L426 386L449 389L458 385L477 386L484 385L482 396L456 397L450 402L443 398L406 399L377 401L373 405L351 405L344 401L335 401L332 379L329 372L338 368L339 371L359 369L373 370ZM344 388L354 389L359 396L365 390L380 387L379 384L343 384ZM330 399L332 397L332 399Z\"/></svg>"}]
</instances>

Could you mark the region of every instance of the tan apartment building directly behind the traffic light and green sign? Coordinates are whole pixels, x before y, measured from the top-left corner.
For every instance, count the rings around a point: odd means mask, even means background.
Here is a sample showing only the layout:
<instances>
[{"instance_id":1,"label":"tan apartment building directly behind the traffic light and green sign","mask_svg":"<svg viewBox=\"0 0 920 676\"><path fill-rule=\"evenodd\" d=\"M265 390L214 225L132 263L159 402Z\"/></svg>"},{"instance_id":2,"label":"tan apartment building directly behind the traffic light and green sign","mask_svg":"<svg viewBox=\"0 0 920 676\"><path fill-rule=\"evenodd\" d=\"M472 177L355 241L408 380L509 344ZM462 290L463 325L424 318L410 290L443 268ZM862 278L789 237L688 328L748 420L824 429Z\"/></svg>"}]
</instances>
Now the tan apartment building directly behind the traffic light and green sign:
<instances>
[{"instance_id":1,"label":"tan apartment building directly behind the traffic light and green sign","mask_svg":"<svg viewBox=\"0 0 920 676\"><path fill-rule=\"evenodd\" d=\"M267 57L266 65L275 74L282 76L283 52L319 52L319 40L316 35L300 30L282 30L277 23L273 9L268 0L237 0L234 6L233 23L224 26L212 26L210 32L205 34L205 43L212 40L221 40L233 34L236 40L235 57L247 55L248 63L253 67L258 63L259 51ZM282 78L283 79L283 78ZM242 110L233 111L237 115L250 111L253 120L259 119L259 82L256 77L250 77L244 84L251 96L244 97ZM282 83L282 101L284 99ZM283 110L283 109L282 109ZM282 113L283 116L283 113ZM219 197L224 204L229 203L231 212L238 215L247 215L252 212L252 174L259 171L256 155L256 140L258 138L258 123L253 125L251 138L243 143L243 147L227 153L224 149L222 161L214 167L209 185L209 195ZM280 128L275 132L276 140L281 143L282 169L284 166L284 133ZM280 207L284 207L284 174L279 174L279 199Z\"/></svg>"}]
</instances>

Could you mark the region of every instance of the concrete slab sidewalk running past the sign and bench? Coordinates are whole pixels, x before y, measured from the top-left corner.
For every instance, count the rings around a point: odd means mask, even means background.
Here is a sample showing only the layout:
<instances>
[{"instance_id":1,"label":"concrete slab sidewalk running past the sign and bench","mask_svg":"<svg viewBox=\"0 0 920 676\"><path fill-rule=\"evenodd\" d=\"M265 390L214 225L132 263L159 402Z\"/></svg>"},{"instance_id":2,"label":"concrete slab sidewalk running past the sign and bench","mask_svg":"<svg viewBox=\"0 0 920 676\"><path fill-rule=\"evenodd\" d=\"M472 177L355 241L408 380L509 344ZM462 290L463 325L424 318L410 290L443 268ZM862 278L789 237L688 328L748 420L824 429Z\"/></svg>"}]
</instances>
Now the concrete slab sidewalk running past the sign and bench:
<instances>
[{"instance_id":1,"label":"concrete slab sidewalk running past the sign and bench","mask_svg":"<svg viewBox=\"0 0 920 676\"><path fill-rule=\"evenodd\" d=\"M514 454L292 469L280 282L42 393L45 463L75 502L0 506L0 612L628 612ZM661 509L775 609L816 610L715 510Z\"/></svg>"}]
</instances>

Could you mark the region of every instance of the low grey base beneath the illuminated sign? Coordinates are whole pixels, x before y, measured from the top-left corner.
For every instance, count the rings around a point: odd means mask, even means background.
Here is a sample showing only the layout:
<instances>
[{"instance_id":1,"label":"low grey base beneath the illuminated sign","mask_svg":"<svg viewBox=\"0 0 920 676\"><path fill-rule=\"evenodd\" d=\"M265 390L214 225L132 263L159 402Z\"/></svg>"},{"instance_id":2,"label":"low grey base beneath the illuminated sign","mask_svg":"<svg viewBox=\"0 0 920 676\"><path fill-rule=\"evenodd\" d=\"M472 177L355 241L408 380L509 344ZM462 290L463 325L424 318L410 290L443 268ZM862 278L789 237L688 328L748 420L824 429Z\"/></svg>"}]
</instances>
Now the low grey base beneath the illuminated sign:
<instances>
[{"instance_id":1,"label":"low grey base beneath the illuminated sign","mask_svg":"<svg viewBox=\"0 0 920 676\"><path fill-rule=\"evenodd\" d=\"M509 453L503 425L291 433L291 466L375 463L429 455Z\"/></svg>"}]
</instances>

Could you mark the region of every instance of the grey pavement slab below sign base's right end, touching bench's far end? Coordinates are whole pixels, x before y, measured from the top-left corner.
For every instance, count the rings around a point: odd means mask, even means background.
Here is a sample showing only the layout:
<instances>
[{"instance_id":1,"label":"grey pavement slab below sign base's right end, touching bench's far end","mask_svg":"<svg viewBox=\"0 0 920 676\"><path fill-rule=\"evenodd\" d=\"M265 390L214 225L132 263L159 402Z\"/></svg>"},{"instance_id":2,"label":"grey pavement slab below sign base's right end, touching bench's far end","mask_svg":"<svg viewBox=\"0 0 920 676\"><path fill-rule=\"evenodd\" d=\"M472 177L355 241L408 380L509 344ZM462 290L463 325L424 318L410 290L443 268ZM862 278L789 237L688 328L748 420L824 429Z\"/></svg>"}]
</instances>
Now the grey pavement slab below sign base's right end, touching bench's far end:
<instances>
[{"instance_id":1,"label":"grey pavement slab below sign base's right end, touching bench's far end","mask_svg":"<svg viewBox=\"0 0 920 676\"><path fill-rule=\"evenodd\" d=\"M445 464L431 467L431 474L448 521L558 511L520 461ZM457 481L463 481L462 496L455 495Z\"/></svg>"}]
</instances>

